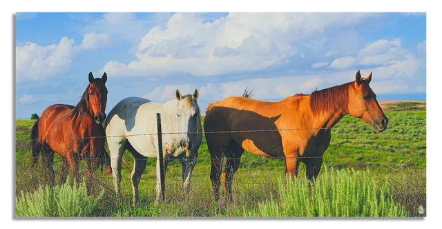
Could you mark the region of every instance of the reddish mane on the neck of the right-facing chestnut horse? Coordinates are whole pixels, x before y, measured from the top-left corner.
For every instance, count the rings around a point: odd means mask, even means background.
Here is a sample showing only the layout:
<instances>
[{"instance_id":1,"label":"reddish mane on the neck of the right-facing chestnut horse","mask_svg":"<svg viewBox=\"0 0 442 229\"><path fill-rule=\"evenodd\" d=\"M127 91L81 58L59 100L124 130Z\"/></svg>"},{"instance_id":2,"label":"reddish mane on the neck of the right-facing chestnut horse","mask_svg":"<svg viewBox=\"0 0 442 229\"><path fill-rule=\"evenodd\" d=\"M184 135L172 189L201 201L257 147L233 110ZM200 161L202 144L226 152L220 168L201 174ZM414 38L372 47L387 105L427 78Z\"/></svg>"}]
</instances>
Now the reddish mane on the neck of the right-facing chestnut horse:
<instances>
[{"instance_id":1,"label":"reddish mane on the neck of the right-facing chestnut horse","mask_svg":"<svg viewBox=\"0 0 442 229\"><path fill-rule=\"evenodd\" d=\"M349 102L348 89L353 86L353 83L344 83L332 88L311 92L310 108L313 115L320 115L321 112L336 112L341 108L347 108Z\"/></svg>"}]
</instances>

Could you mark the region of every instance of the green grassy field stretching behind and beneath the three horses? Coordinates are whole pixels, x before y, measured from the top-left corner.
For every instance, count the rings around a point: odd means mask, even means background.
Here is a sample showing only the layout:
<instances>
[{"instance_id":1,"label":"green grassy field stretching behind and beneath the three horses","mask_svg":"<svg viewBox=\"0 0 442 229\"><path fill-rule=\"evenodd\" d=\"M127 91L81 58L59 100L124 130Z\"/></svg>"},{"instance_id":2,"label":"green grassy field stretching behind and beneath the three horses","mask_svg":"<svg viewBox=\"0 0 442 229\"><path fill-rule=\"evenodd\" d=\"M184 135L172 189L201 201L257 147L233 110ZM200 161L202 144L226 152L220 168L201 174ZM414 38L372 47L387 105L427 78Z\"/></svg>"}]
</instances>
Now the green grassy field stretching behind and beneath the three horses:
<instances>
[{"instance_id":1,"label":"green grassy field stretching behind and beneath the three horses","mask_svg":"<svg viewBox=\"0 0 442 229\"><path fill-rule=\"evenodd\" d=\"M410 216L419 215L416 204L422 202L422 188L428 178L428 110L414 109L422 104L400 103L384 108L390 119L389 127L381 133L360 119L345 116L332 130L332 142L324 154L323 176L325 167L332 170L371 171L370 176L378 183L387 177L393 179L393 199L403 204L410 211ZM425 105L425 104L424 104ZM427 104L426 104L427 105ZM42 170L29 167L30 128L34 120L16 121L16 195L21 191L32 193L45 186ZM131 153L124 157L129 168L133 161ZM98 216L244 216L244 212L258 209L258 203L266 203L278 197L278 179L284 176L284 161L267 159L244 152L233 185L234 204L221 199L213 201L210 175L210 155L203 137L198 163L192 175L192 195L184 197L181 187L181 164L173 161L166 172L167 205L153 206L155 196L155 159L148 159L148 164L140 182L141 206L131 208L132 190L129 180L130 170L122 167L122 189L126 197L116 202L110 177L98 175L97 186L104 187L102 208L108 208ZM41 161L41 160L40 160ZM54 168L56 180L61 168L61 157L55 155ZM86 163L81 162L84 174ZM396 169L400 170L394 172ZM305 174L305 166L300 164L299 179ZM99 172L101 174L101 172ZM61 184L59 184L61 185ZM97 192L101 188L97 188ZM405 194L409 193L409 194ZM189 200L190 198L190 200ZM186 201L182 201L186 199ZM419 205L418 205L419 206ZM247 215L247 214L246 214Z\"/></svg>"}]
</instances>

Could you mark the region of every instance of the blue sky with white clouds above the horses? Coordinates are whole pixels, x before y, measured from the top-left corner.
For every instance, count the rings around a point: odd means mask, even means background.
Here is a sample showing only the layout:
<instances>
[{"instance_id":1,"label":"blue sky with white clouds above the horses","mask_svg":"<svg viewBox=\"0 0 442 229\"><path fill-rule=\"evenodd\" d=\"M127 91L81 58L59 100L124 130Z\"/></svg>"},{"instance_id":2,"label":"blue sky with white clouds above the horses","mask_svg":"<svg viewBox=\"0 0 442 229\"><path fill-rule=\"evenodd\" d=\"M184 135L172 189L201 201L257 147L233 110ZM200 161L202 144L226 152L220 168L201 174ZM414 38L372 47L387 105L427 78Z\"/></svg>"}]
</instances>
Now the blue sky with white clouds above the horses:
<instances>
[{"instance_id":1,"label":"blue sky with white clouds above the horses","mask_svg":"<svg viewBox=\"0 0 442 229\"><path fill-rule=\"evenodd\" d=\"M108 75L106 113L126 97L278 101L373 72L379 101L428 100L427 11L15 12L16 119L76 105Z\"/></svg>"}]
</instances>

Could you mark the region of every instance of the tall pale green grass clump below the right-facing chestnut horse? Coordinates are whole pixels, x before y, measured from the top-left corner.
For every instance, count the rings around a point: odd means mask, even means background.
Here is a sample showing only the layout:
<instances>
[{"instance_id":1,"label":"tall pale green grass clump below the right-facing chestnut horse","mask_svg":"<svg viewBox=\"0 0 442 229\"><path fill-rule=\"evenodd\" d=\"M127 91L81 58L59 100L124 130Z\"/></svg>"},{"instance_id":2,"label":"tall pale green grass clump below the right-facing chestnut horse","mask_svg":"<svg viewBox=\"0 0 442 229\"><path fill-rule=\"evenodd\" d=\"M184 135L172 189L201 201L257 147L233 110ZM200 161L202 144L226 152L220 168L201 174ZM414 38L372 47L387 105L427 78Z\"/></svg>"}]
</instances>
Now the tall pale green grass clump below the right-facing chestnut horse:
<instances>
[{"instance_id":1,"label":"tall pale green grass clump below the right-facing chestnut horse","mask_svg":"<svg viewBox=\"0 0 442 229\"><path fill-rule=\"evenodd\" d=\"M308 179L278 179L278 197L244 209L248 217L407 217L394 203L389 183L376 184L369 170L331 170L311 186Z\"/></svg>"}]
</instances>

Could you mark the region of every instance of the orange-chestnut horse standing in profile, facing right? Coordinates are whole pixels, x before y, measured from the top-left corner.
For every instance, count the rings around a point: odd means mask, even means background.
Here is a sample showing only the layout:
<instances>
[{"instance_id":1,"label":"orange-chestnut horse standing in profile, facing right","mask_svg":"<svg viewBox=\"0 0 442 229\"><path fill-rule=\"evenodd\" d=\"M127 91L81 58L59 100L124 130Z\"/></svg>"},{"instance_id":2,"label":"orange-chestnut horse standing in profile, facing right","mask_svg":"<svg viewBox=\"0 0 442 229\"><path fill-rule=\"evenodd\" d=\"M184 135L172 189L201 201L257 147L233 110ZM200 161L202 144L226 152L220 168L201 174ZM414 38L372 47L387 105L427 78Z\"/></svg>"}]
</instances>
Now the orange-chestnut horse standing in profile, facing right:
<instances>
[{"instance_id":1,"label":"orange-chestnut horse standing in profile, facing right","mask_svg":"<svg viewBox=\"0 0 442 229\"><path fill-rule=\"evenodd\" d=\"M226 194L231 198L233 175L244 150L285 159L285 172L292 178L298 175L302 161L307 178L313 180L330 143L330 128L344 115L363 119L376 132L385 130L388 119L369 87L371 79L371 73L363 79L358 71L356 81L309 95L296 94L278 102L229 97L211 103L206 110L204 131L212 159L210 178L215 199L220 195L224 156L227 162L222 177Z\"/></svg>"}]
</instances>

